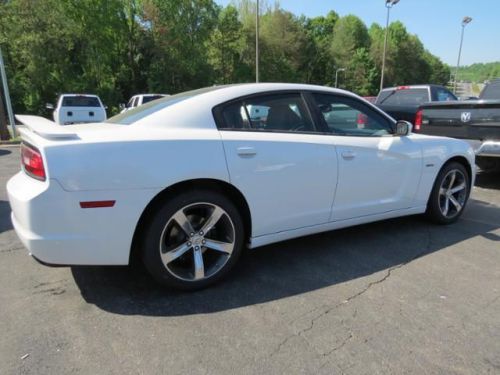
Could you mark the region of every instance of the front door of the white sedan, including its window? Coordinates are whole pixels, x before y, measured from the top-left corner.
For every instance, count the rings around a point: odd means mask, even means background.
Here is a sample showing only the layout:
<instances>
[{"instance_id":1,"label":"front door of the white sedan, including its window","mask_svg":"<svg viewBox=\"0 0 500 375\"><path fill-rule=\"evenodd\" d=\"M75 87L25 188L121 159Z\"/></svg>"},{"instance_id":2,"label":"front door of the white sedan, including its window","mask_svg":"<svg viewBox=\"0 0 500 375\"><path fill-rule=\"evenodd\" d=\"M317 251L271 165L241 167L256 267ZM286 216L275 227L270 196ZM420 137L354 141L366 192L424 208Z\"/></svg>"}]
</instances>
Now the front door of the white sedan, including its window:
<instances>
[{"instance_id":1,"label":"front door of the white sedan, including its window","mask_svg":"<svg viewBox=\"0 0 500 375\"><path fill-rule=\"evenodd\" d=\"M411 137L393 136L392 123L360 100L326 93L313 97L339 164L331 220L412 207L421 147Z\"/></svg>"}]
</instances>

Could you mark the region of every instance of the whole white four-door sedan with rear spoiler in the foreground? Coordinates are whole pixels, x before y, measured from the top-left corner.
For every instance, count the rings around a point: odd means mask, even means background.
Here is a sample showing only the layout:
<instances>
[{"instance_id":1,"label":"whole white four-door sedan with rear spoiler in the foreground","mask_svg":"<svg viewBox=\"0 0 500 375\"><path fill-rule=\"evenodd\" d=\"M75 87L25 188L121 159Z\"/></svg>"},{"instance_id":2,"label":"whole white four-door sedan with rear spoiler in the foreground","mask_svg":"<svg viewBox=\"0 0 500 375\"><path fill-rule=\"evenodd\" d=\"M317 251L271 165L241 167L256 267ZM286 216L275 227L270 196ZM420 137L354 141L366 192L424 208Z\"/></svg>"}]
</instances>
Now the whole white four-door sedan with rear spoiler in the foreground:
<instances>
[{"instance_id":1,"label":"whole white four-door sedan with rear spoiler in the foreground","mask_svg":"<svg viewBox=\"0 0 500 375\"><path fill-rule=\"evenodd\" d=\"M320 86L210 87L84 126L18 117L23 170L7 189L30 254L139 255L182 289L221 279L245 247L405 215L451 223L475 176L467 143Z\"/></svg>"}]
</instances>

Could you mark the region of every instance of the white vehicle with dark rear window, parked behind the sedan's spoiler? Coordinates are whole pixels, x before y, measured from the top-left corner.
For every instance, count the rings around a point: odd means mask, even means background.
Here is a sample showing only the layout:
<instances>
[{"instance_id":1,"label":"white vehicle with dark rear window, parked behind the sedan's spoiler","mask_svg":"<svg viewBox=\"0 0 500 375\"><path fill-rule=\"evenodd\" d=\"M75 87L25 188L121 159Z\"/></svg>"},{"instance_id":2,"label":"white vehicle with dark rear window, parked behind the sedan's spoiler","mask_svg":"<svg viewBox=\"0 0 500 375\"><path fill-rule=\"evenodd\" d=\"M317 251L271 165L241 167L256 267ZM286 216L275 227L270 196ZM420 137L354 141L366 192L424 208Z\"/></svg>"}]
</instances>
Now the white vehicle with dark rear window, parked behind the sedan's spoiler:
<instances>
[{"instance_id":1,"label":"white vehicle with dark rear window, parked behind the sedan's spoiler","mask_svg":"<svg viewBox=\"0 0 500 375\"><path fill-rule=\"evenodd\" d=\"M54 108L54 121L59 125L102 122L106 120L106 108L97 95L61 94Z\"/></svg>"}]
</instances>

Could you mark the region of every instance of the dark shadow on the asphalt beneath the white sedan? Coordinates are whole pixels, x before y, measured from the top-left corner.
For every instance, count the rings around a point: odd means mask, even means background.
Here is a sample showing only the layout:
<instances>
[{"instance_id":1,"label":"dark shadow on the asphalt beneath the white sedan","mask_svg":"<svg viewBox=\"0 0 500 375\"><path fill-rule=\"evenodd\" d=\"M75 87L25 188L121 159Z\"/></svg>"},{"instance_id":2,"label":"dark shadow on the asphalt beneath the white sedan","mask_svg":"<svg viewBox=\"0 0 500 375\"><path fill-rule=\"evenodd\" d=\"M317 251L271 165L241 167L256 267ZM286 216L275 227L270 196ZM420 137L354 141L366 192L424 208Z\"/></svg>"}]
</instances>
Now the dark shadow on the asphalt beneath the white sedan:
<instances>
[{"instance_id":1,"label":"dark shadow on the asphalt beneath the white sedan","mask_svg":"<svg viewBox=\"0 0 500 375\"><path fill-rule=\"evenodd\" d=\"M500 208L470 201L491 222L437 226L407 217L286 241L249 251L229 278L198 292L155 284L141 267L73 267L86 302L115 314L179 316L286 298L387 270L475 236L499 241Z\"/></svg>"}]
</instances>

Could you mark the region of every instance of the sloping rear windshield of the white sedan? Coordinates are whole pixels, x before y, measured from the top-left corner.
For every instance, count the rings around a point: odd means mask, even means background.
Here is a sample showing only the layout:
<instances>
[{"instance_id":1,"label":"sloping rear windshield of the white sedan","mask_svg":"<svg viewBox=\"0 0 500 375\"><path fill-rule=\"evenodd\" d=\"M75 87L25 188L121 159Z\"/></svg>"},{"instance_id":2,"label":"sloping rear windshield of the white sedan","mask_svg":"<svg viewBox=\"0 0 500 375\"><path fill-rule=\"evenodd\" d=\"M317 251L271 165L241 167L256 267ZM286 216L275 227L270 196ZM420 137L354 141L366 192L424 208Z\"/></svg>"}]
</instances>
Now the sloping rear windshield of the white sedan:
<instances>
[{"instance_id":1,"label":"sloping rear windshield of the white sedan","mask_svg":"<svg viewBox=\"0 0 500 375\"><path fill-rule=\"evenodd\" d=\"M224 86L212 86L203 89L181 92L172 96L167 96L162 99L153 100L152 102L135 107L129 111L120 113L106 120L112 124L131 125L143 118L152 115L155 112L161 111L164 108L170 107L176 103L192 98L196 95L201 95L210 91L218 90Z\"/></svg>"}]
</instances>

